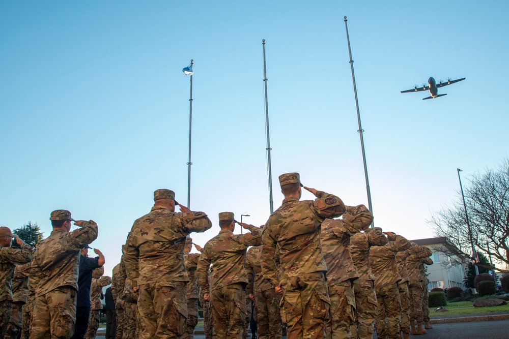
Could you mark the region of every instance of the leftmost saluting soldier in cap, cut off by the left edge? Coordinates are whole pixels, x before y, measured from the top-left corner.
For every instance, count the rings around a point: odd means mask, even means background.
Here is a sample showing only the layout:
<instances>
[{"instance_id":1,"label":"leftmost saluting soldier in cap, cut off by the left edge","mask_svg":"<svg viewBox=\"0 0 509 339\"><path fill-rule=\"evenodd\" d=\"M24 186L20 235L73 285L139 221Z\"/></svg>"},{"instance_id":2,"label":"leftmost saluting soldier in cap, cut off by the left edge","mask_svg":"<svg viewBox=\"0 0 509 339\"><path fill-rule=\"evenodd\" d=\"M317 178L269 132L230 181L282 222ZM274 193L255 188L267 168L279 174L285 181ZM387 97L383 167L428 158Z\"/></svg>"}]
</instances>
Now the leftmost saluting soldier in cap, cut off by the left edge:
<instances>
[{"instance_id":1,"label":"leftmost saluting soldier in cap, cut off by the left edge","mask_svg":"<svg viewBox=\"0 0 509 339\"><path fill-rule=\"evenodd\" d=\"M20 249L11 247L12 238ZM12 307L12 276L15 265L23 265L33 258L34 250L20 237L12 234L9 227L0 227L0 338L5 336Z\"/></svg>"}]
</instances>

